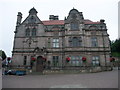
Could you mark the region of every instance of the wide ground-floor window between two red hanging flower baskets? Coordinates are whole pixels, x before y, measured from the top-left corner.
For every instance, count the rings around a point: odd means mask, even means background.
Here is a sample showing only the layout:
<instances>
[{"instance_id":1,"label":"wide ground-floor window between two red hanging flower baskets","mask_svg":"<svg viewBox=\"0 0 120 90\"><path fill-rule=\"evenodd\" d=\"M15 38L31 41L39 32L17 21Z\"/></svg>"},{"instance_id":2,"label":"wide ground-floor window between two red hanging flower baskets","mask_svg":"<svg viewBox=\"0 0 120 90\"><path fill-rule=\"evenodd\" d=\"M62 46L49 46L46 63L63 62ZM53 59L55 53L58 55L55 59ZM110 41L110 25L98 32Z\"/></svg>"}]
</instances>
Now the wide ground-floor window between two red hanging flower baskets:
<instances>
[{"instance_id":1,"label":"wide ground-floor window between two red hanging flower baskets","mask_svg":"<svg viewBox=\"0 0 120 90\"><path fill-rule=\"evenodd\" d=\"M71 66L82 66L82 56L71 56L70 57L70 65Z\"/></svg>"}]
</instances>

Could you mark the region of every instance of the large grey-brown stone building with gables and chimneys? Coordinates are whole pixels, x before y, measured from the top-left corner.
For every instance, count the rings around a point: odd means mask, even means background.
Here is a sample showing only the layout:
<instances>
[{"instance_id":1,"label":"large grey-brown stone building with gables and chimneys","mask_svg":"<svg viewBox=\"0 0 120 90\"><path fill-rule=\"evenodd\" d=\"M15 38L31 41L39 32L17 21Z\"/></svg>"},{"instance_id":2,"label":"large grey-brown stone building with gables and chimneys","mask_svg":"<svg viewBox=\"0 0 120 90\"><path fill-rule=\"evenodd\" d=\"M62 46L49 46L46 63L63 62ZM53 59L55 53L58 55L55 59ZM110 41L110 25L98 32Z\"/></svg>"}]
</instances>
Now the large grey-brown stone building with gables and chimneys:
<instances>
[{"instance_id":1,"label":"large grey-brown stone building with gables and chimneys","mask_svg":"<svg viewBox=\"0 0 120 90\"><path fill-rule=\"evenodd\" d=\"M54 67L109 65L110 44L105 20L93 22L84 19L83 13L71 9L64 20L50 15L49 20L41 21L32 8L22 21L18 12L12 51L13 65L39 66L41 58L50 61ZM66 58L70 61L66 64Z\"/></svg>"}]
</instances>

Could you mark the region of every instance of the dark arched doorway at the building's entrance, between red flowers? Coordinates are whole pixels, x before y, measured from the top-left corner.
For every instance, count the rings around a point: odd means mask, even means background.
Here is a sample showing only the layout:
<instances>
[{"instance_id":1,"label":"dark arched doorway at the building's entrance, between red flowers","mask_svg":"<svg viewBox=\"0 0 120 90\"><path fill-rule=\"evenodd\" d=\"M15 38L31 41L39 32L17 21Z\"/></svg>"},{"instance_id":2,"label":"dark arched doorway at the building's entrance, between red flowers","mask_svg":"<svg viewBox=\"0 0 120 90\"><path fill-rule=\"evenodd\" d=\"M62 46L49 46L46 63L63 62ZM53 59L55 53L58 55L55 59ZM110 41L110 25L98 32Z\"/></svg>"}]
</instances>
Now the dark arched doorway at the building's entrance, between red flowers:
<instances>
[{"instance_id":1,"label":"dark arched doorway at the building's entrance, between red flowers","mask_svg":"<svg viewBox=\"0 0 120 90\"><path fill-rule=\"evenodd\" d=\"M44 64L44 59L42 56L37 57L37 62L36 62L36 71L37 72L43 72L43 64Z\"/></svg>"}]
</instances>

